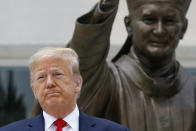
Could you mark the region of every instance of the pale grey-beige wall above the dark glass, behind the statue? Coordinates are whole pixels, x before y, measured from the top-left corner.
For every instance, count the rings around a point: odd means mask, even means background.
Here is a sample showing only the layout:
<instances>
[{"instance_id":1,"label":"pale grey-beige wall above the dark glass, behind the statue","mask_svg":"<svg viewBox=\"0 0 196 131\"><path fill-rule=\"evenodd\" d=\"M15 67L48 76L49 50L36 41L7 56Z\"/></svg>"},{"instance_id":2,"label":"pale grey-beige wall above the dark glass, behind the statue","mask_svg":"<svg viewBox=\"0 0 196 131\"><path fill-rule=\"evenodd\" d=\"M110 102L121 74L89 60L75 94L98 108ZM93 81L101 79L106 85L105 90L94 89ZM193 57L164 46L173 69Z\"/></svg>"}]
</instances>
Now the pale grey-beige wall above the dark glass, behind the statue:
<instances>
[{"instance_id":1,"label":"pale grey-beige wall above the dark glass, behind the statue","mask_svg":"<svg viewBox=\"0 0 196 131\"><path fill-rule=\"evenodd\" d=\"M71 38L75 19L89 11L98 0L0 0L0 66L27 65L27 58L43 46L64 46ZM195 66L196 1L188 12L189 28L181 41L178 58L186 66ZM125 0L111 36L113 56L126 39L123 18L127 14ZM189 54L189 55L188 55Z\"/></svg>"}]
</instances>

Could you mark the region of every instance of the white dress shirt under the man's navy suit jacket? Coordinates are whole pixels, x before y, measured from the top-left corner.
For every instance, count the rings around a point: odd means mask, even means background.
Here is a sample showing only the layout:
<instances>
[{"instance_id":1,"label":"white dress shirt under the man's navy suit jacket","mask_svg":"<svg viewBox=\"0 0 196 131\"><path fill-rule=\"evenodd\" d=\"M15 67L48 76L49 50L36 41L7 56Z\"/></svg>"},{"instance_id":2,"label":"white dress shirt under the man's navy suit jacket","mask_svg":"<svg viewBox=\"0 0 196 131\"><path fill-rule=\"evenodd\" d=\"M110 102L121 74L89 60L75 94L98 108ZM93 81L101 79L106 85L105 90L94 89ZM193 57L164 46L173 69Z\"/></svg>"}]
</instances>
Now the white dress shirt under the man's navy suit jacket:
<instances>
[{"instance_id":1,"label":"white dress shirt under the man's navy suit jacket","mask_svg":"<svg viewBox=\"0 0 196 131\"><path fill-rule=\"evenodd\" d=\"M55 131L57 127L53 124L53 122L56 121L57 118L49 115L45 111L43 111L43 117L45 122L45 131ZM63 120L67 122L67 125L63 127L63 131L79 131L78 106L76 105L73 112L64 117Z\"/></svg>"}]
</instances>

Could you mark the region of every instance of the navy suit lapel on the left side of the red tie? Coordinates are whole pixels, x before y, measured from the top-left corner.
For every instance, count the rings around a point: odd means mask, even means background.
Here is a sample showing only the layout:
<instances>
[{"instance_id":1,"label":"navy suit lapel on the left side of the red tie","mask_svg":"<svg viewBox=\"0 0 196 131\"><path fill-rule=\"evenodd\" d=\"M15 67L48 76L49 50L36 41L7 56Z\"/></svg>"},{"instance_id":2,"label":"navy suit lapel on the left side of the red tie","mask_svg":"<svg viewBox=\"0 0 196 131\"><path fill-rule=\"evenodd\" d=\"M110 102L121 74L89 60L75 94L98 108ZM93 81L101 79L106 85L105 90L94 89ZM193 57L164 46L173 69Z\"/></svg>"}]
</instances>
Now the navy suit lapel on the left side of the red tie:
<instances>
[{"instance_id":1,"label":"navy suit lapel on the left side of the red tie","mask_svg":"<svg viewBox=\"0 0 196 131\"><path fill-rule=\"evenodd\" d=\"M44 131L44 118L41 113L35 118L32 118L28 122L28 127L30 131Z\"/></svg>"}]
</instances>

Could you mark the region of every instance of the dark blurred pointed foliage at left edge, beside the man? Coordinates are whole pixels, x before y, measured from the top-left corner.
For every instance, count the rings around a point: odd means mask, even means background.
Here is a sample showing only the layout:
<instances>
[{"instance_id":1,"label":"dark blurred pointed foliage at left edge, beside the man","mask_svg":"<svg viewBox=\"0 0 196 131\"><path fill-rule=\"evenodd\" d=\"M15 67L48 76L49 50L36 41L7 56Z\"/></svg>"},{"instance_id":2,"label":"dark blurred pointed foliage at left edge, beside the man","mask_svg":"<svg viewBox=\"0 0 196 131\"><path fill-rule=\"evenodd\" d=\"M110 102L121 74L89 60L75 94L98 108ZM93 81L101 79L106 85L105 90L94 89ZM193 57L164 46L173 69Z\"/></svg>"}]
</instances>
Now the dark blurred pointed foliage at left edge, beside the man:
<instances>
[{"instance_id":1,"label":"dark blurred pointed foliage at left edge, beside the man","mask_svg":"<svg viewBox=\"0 0 196 131\"><path fill-rule=\"evenodd\" d=\"M23 95L16 96L13 82L13 72L8 71L9 79L7 93L4 92L0 79L0 126L25 118L26 109L23 104Z\"/></svg>"}]
</instances>

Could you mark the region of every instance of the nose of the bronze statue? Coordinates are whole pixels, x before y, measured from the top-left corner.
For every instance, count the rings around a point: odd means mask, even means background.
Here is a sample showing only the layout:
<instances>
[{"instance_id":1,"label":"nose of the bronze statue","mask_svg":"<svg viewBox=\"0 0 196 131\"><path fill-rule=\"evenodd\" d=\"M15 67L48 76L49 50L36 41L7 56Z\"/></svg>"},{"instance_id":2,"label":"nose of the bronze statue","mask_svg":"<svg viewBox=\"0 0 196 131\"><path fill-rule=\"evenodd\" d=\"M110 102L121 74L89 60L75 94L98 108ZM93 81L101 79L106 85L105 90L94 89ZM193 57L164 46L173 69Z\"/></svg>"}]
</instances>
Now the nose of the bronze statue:
<instances>
[{"instance_id":1,"label":"nose of the bronze statue","mask_svg":"<svg viewBox=\"0 0 196 131\"><path fill-rule=\"evenodd\" d=\"M158 36L163 36L163 35L165 35L165 32L166 31L165 31L165 27L164 27L163 22L162 21L158 21L156 26L155 26L155 28L154 28L153 33L155 35L158 35Z\"/></svg>"}]
</instances>

